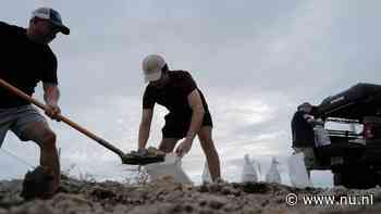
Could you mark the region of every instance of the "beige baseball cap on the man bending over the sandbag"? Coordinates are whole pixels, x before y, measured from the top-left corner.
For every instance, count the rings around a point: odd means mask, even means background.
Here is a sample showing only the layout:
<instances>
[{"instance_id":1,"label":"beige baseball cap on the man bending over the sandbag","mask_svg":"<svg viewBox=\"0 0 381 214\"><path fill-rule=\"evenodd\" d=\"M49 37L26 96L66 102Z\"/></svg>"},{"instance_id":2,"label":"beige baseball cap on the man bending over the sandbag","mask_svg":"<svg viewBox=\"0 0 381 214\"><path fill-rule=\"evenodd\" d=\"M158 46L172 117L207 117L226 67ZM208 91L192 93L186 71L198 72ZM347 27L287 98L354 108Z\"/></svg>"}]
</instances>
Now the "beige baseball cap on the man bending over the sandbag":
<instances>
[{"instance_id":1,"label":"beige baseball cap on the man bending over the sandbag","mask_svg":"<svg viewBox=\"0 0 381 214\"><path fill-rule=\"evenodd\" d=\"M161 78L162 68L167 62L160 55L151 54L143 60L143 74L145 83L156 81Z\"/></svg>"}]
</instances>

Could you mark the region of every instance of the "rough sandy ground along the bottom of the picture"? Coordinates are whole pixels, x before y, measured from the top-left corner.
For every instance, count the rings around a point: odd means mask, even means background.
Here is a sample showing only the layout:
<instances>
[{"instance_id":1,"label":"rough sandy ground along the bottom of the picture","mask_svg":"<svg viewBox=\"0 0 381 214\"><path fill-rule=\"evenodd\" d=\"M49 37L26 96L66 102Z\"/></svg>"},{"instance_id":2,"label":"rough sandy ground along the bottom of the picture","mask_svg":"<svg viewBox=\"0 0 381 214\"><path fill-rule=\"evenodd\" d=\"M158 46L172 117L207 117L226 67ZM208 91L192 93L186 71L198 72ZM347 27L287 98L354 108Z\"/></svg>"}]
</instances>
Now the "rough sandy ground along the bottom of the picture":
<instances>
[{"instance_id":1,"label":"rough sandy ground along the bottom of the picture","mask_svg":"<svg viewBox=\"0 0 381 214\"><path fill-rule=\"evenodd\" d=\"M24 201L19 196L21 185L21 180L0 182L0 214L381 213L379 188L297 189L265 182L184 186L168 177L131 185L63 178L60 192L53 198ZM291 202L295 202L293 196L298 197L297 203L287 204L286 196L291 196ZM304 203L304 197L314 196L335 197L331 201L334 204Z\"/></svg>"}]
</instances>

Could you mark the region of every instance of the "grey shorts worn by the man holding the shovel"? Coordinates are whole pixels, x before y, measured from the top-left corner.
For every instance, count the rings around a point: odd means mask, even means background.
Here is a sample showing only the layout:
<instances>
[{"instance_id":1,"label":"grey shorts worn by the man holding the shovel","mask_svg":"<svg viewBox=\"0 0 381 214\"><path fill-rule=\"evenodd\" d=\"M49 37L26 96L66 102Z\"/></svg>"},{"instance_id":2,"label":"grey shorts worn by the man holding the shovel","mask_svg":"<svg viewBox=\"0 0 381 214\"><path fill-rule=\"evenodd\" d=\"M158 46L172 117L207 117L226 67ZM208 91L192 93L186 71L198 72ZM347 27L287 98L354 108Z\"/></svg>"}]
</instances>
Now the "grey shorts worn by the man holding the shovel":
<instances>
[{"instance_id":1,"label":"grey shorts worn by the man holding the shovel","mask_svg":"<svg viewBox=\"0 0 381 214\"><path fill-rule=\"evenodd\" d=\"M23 131L34 122L47 123L45 117L32 105L0 109L0 147L8 130L12 130L22 141L30 140L26 135L23 135Z\"/></svg>"}]
</instances>

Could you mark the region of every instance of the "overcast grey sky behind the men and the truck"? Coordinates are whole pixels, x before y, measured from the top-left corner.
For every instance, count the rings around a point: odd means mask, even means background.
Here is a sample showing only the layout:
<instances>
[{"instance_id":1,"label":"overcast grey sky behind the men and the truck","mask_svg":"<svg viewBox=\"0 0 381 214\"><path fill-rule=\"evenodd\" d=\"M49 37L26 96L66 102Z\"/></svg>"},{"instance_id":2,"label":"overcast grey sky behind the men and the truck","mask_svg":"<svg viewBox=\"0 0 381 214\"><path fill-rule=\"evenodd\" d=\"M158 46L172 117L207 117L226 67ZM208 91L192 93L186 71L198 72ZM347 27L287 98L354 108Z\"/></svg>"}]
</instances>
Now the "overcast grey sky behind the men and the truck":
<instances>
[{"instance_id":1,"label":"overcast grey sky behind the men and the truck","mask_svg":"<svg viewBox=\"0 0 381 214\"><path fill-rule=\"evenodd\" d=\"M51 43L64 115L124 151L136 149L145 87L140 62L162 54L170 68L189 71L206 96L228 180L239 180L245 153L265 168L271 156L284 163L299 103L318 104L359 81L381 84L377 0L13 0L2 3L0 20L26 27L32 11L42 5L57 9L71 28ZM41 99L41 88L37 91ZM165 113L156 108L151 146L158 146ZM75 164L97 178L125 175L128 166L113 153L64 124L50 124L63 169ZM3 149L37 164L37 147L13 134ZM204 162L196 141L183 160L194 180ZM0 167L2 179L27 169L1 150ZM288 179L285 164L281 169ZM312 178L331 184L329 174Z\"/></svg>"}]
</instances>

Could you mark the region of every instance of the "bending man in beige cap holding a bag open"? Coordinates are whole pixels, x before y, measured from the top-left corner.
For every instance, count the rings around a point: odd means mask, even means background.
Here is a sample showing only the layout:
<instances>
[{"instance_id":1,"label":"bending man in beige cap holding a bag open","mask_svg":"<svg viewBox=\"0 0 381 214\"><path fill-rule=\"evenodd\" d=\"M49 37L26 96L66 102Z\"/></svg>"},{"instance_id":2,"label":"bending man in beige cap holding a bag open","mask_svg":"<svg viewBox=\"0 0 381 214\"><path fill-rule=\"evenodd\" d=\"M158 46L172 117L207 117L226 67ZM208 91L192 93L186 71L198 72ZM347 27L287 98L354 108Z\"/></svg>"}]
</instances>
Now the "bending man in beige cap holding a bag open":
<instances>
[{"instance_id":1,"label":"bending man in beige cap holding a bag open","mask_svg":"<svg viewBox=\"0 0 381 214\"><path fill-rule=\"evenodd\" d=\"M169 110L162 128L159 149L175 152L179 156L186 154L196 135L207 156L212 180L220 178L220 160L211 137L212 121L202 92L197 88L190 74L185 71L169 71L160 55L148 55L143 61L146 83L149 81L143 97L143 116L139 126L138 148L145 148L153 114L155 103Z\"/></svg>"}]
</instances>

